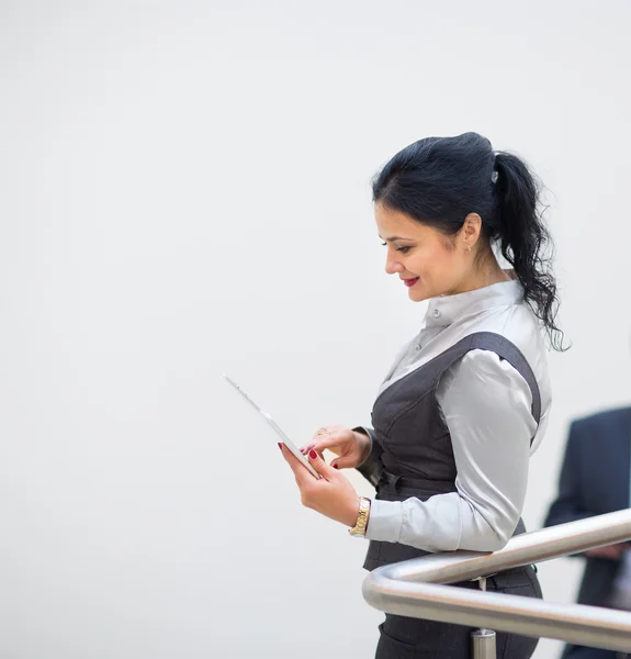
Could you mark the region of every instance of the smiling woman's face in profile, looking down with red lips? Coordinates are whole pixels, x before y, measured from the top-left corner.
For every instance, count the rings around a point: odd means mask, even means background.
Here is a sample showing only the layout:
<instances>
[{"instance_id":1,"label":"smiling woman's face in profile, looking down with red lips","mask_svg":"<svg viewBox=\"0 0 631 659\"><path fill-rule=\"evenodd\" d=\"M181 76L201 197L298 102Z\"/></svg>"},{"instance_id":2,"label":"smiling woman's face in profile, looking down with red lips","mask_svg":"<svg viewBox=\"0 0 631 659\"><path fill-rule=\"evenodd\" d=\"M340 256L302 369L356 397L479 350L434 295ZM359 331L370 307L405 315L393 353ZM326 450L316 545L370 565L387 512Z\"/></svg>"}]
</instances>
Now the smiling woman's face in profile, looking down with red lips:
<instances>
[{"instance_id":1,"label":"smiling woman's face in profile, looking down with red lips","mask_svg":"<svg viewBox=\"0 0 631 659\"><path fill-rule=\"evenodd\" d=\"M374 215L379 235L387 247L385 271L398 275L410 300L420 302L470 290L466 282L473 269L473 254L462 230L455 236L447 236L379 202Z\"/></svg>"}]
</instances>

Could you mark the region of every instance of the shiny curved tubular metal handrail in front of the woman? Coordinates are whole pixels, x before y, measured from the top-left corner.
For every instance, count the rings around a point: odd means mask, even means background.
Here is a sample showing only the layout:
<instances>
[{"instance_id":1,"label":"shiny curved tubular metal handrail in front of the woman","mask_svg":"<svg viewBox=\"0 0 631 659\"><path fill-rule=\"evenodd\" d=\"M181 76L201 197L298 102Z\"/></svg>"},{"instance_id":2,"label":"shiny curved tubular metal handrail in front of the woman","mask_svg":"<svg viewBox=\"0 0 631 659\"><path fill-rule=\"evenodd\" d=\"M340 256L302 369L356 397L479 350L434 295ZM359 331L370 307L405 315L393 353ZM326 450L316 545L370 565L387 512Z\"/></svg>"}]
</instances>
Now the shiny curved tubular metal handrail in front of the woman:
<instances>
[{"instance_id":1,"label":"shiny curved tubular metal handrail in front of the woman","mask_svg":"<svg viewBox=\"0 0 631 659\"><path fill-rule=\"evenodd\" d=\"M629 652L631 612L556 604L447 584L630 538L631 509L628 509L525 533L493 554L451 551L384 566L367 577L363 596L371 606L385 613Z\"/></svg>"}]
</instances>

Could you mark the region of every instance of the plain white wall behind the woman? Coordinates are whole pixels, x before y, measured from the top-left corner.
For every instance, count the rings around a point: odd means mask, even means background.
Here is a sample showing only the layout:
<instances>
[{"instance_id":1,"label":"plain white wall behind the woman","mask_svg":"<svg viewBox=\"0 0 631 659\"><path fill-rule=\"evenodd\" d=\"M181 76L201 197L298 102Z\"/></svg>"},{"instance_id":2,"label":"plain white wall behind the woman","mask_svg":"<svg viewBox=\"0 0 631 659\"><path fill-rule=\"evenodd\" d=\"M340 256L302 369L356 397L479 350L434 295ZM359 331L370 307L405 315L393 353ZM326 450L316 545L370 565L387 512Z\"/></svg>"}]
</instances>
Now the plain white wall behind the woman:
<instances>
[{"instance_id":1,"label":"plain white wall behind the woman","mask_svg":"<svg viewBox=\"0 0 631 659\"><path fill-rule=\"evenodd\" d=\"M541 524L568 420L630 398L630 19L0 2L2 657L372 655L365 544L301 507L219 376L296 442L368 421L424 314L383 272L369 180L427 135L481 132L553 192L574 347L550 357ZM579 567L541 566L547 596Z\"/></svg>"}]
</instances>

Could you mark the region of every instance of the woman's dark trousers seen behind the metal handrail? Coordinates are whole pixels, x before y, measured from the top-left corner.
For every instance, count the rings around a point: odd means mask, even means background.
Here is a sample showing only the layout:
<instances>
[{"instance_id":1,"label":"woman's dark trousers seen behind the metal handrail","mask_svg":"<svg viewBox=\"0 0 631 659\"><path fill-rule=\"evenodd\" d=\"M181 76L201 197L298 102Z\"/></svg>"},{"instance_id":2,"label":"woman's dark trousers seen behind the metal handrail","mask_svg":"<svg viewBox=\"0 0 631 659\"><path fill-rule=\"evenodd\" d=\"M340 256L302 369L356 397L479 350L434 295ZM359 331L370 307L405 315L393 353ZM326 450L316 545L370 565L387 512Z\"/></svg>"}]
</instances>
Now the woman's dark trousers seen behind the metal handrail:
<instances>
[{"instance_id":1,"label":"woman's dark trousers seen behind the metal handrail","mask_svg":"<svg viewBox=\"0 0 631 659\"><path fill-rule=\"evenodd\" d=\"M478 588L475 581L457 585ZM539 581L530 566L488 577L486 590L541 597ZM473 628L471 627L386 614L385 622L379 628L381 636L375 659L471 659L472 657ZM538 641L538 638L498 632L497 659L529 659Z\"/></svg>"}]
</instances>

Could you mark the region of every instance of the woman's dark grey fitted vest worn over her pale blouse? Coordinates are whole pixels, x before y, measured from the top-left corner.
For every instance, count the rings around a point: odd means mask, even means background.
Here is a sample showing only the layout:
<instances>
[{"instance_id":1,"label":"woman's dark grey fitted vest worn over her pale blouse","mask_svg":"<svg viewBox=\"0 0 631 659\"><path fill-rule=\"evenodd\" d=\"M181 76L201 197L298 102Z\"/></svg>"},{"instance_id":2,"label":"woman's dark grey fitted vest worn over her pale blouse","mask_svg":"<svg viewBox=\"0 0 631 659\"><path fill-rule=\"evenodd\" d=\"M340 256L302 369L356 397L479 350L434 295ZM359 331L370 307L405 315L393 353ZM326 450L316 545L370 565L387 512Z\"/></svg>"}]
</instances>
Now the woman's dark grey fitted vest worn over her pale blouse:
<instances>
[{"instance_id":1,"label":"woman's dark grey fitted vest worn over her pale blouse","mask_svg":"<svg viewBox=\"0 0 631 659\"><path fill-rule=\"evenodd\" d=\"M457 491L451 436L441 418L436 390L442 375L475 349L495 353L523 377L532 392L532 416L539 424L541 395L526 357L499 334L471 334L387 387L374 402L370 460L373 468L367 465L360 471L376 485L376 499L404 501L416 496L426 501L435 494ZM380 455L375 455L375 450ZM379 465L376 470L375 465ZM515 535L525 530L520 520ZM371 540L363 567L373 570L427 554L408 545Z\"/></svg>"}]
</instances>

